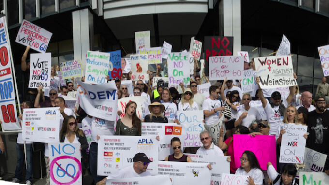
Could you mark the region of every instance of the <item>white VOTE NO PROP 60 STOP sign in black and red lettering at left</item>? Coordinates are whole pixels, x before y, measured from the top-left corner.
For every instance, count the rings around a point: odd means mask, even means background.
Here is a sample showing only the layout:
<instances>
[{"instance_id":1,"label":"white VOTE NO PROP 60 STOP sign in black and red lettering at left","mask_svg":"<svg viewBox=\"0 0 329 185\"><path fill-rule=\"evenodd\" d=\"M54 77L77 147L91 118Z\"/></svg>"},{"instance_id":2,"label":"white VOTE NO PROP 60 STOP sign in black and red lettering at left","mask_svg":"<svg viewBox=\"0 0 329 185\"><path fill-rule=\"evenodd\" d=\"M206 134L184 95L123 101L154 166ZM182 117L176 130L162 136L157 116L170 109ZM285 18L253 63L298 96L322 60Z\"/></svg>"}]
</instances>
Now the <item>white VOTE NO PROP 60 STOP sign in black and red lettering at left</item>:
<instances>
[{"instance_id":1,"label":"white VOTE NO PROP 60 STOP sign in black and red lettering at left","mask_svg":"<svg viewBox=\"0 0 329 185\"><path fill-rule=\"evenodd\" d=\"M31 54L29 88L50 87L51 53Z\"/></svg>"}]
</instances>

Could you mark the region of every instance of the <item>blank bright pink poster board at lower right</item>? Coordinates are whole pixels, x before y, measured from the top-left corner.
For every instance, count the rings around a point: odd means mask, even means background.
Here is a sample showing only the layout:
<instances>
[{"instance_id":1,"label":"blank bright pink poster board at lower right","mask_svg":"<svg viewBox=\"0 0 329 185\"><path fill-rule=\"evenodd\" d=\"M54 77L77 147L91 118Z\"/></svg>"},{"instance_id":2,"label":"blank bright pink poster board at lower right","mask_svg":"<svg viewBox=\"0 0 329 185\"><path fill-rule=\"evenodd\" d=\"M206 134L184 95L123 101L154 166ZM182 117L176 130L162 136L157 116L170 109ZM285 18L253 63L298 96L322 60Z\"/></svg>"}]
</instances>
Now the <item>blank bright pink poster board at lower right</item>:
<instances>
[{"instance_id":1,"label":"blank bright pink poster board at lower right","mask_svg":"<svg viewBox=\"0 0 329 185\"><path fill-rule=\"evenodd\" d=\"M268 162L271 162L276 169L275 136L233 135L234 160L237 168L241 166L240 157L246 150L254 152L263 170L267 169Z\"/></svg>"}]
</instances>

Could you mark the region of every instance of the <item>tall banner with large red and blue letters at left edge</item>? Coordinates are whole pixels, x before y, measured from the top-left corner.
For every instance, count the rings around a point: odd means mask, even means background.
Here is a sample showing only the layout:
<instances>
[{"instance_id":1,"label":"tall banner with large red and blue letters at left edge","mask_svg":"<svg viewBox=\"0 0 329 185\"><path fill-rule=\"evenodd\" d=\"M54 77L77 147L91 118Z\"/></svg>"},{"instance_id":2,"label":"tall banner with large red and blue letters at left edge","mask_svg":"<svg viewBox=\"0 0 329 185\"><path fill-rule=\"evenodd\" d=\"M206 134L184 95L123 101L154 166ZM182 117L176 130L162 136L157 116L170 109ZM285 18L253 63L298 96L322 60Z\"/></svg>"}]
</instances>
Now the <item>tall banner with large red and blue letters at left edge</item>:
<instances>
[{"instance_id":1,"label":"tall banner with large red and blue letters at left edge","mask_svg":"<svg viewBox=\"0 0 329 185\"><path fill-rule=\"evenodd\" d=\"M7 33L7 25L5 24L4 20L5 18L5 16L0 18L0 119L2 121L1 126L3 130L21 130L22 128L17 118L15 84L12 76L12 58L10 55L11 48L8 45L10 41Z\"/></svg>"}]
</instances>

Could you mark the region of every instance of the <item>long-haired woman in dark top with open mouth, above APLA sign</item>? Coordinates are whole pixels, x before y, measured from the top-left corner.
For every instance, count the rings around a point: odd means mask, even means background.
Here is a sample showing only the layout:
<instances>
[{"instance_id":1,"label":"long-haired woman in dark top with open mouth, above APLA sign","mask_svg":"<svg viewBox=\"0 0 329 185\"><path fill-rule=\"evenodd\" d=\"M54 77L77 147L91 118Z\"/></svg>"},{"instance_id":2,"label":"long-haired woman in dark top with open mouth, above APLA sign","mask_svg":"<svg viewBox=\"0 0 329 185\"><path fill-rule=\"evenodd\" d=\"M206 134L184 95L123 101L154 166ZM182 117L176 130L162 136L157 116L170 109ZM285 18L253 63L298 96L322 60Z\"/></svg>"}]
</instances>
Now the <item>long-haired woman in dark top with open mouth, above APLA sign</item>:
<instances>
[{"instance_id":1,"label":"long-haired woman in dark top with open mouth, above APLA sign","mask_svg":"<svg viewBox=\"0 0 329 185\"><path fill-rule=\"evenodd\" d=\"M114 135L141 135L141 120L136 114L136 108L137 104L134 101L127 103L124 117L117 121L117 129Z\"/></svg>"}]
</instances>

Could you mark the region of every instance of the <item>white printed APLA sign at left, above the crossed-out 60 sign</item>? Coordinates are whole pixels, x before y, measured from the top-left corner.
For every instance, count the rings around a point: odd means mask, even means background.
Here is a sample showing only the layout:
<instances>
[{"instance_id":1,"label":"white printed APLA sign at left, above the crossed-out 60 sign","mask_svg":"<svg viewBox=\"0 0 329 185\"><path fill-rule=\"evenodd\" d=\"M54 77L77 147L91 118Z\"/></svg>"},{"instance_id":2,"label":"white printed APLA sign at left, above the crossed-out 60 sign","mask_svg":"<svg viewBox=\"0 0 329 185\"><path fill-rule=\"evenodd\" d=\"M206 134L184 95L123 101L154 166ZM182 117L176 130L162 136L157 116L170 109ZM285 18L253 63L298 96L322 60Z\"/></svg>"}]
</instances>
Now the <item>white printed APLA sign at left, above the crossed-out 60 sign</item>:
<instances>
[{"instance_id":1,"label":"white printed APLA sign at left, above the crossed-out 60 sign","mask_svg":"<svg viewBox=\"0 0 329 185\"><path fill-rule=\"evenodd\" d=\"M22 138L30 142L60 141L59 107L23 110Z\"/></svg>"}]
</instances>

